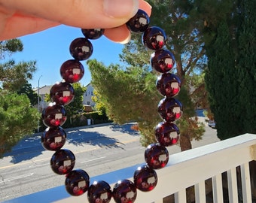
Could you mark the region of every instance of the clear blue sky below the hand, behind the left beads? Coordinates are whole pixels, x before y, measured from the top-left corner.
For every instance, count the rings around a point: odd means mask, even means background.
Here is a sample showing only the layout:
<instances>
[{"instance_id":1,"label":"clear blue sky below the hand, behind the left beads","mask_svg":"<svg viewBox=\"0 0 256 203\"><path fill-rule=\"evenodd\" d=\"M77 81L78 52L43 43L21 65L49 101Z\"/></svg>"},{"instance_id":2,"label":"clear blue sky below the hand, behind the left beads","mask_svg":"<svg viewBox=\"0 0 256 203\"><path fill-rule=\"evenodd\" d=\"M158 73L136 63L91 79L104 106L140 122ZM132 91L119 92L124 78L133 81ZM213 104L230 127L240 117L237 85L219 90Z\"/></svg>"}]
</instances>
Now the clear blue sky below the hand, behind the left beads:
<instances>
[{"instance_id":1,"label":"clear blue sky below the hand, behind the left beads","mask_svg":"<svg viewBox=\"0 0 256 203\"><path fill-rule=\"evenodd\" d=\"M26 35L20 38L23 42L23 51L14 53L10 59L15 62L32 61L37 62L37 71L33 74L33 79L29 80L32 88L45 85L53 85L62 80L59 74L59 68L66 60L73 59L69 53L69 45L75 38L81 38L84 35L79 28L69 26L56 26L42 32L32 35ZM109 41L102 36L97 40L91 40L93 44L93 55L90 59L97 59L105 65L119 62L119 54L123 49L123 44L117 44ZM87 68L86 61L81 61L84 65L84 77L80 83L86 86L90 83L90 71Z\"/></svg>"}]
</instances>

